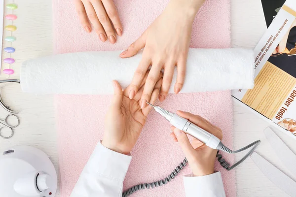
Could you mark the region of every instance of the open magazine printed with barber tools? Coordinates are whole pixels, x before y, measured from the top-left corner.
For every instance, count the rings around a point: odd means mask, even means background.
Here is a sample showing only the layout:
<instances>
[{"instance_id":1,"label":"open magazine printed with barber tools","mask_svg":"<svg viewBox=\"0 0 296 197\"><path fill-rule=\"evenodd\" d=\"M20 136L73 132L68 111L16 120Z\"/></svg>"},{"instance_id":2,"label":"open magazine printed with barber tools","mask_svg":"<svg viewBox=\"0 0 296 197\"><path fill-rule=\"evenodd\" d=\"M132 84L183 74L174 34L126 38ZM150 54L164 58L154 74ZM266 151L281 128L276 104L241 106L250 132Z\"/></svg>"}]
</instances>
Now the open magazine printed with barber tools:
<instances>
[{"instance_id":1,"label":"open magazine printed with barber tools","mask_svg":"<svg viewBox=\"0 0 296 197\"><path fill-rule=\"evenodd\" d=\"M262 6L268 29L254 49L255 87L232 96L296 135L296 0Z\"/></svg>"}]
</instances>

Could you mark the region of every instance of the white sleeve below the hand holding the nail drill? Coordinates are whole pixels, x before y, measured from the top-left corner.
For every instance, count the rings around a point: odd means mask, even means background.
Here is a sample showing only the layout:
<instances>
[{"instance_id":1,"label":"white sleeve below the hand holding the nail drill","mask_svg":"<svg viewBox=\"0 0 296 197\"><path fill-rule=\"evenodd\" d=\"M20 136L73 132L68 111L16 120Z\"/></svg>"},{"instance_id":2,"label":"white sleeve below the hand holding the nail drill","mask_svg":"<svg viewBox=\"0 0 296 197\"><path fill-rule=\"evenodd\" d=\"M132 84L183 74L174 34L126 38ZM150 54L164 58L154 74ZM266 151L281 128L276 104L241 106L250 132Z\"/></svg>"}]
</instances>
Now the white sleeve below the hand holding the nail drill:
<instances>
[{"instance_id":1,"label":"white sleeve below the hand holding the nail drill","mask_svg":"<svg viewBox=\"0 0 296 197\"><path fill-rule=\"evenodd\" d=\"M206 176L183 177L186 197L225 197L225 191L220 172Z\"/></svg>"}]
</instances>

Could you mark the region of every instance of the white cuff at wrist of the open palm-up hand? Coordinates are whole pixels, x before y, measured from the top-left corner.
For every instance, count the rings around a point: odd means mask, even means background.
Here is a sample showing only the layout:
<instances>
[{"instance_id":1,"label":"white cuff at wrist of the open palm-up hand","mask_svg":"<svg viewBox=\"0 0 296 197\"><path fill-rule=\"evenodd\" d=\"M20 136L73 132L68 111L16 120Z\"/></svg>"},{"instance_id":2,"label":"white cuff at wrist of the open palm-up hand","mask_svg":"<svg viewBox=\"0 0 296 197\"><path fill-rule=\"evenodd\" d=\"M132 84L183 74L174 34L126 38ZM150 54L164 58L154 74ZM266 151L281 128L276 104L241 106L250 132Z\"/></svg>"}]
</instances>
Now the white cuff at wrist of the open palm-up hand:
<instances>
[{"instance_id":1,"label":"white cuff at wrist of the open palm-up hand","mask_svg":"<svg viewBox=\"0 0 296 197\"><path fill-rule=\"evenodd\" d=\"M123 182L131 160L132 156L112 151L99 142L85 168Z\"/></svg>"}]
</instances>

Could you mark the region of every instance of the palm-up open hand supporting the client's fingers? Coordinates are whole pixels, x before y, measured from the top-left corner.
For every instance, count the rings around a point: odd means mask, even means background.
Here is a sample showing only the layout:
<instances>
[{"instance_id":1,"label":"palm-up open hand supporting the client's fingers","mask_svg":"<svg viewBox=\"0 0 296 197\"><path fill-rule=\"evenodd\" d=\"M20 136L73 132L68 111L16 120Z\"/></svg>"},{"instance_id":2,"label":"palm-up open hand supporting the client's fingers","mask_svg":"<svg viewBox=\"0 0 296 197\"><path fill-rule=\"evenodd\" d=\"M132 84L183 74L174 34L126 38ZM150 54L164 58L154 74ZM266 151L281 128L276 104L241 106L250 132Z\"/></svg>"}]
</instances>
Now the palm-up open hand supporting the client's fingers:
<instances>
[{"instance_id":1,"label":"palm-up open hand supporting the client's fingers","mask_svg":"<svg viewBox=\"0 0 296 197\"><path fill-rule=\"evenodd\" d=\"M145 78L147 78L146 73ZM162 74L157 76L157 83L151 95L153 103L159 94L162 82ZM140 99L144 90L145 81L133 99L129 99L128 92L122 92L117 81L113 81L114 96L110 109L106 115L105 132L102 145L122 154L129 154L145 125L151 106L144 109L140 107Z\"/></svg>"}]
</instances>

